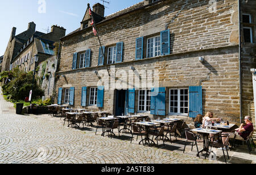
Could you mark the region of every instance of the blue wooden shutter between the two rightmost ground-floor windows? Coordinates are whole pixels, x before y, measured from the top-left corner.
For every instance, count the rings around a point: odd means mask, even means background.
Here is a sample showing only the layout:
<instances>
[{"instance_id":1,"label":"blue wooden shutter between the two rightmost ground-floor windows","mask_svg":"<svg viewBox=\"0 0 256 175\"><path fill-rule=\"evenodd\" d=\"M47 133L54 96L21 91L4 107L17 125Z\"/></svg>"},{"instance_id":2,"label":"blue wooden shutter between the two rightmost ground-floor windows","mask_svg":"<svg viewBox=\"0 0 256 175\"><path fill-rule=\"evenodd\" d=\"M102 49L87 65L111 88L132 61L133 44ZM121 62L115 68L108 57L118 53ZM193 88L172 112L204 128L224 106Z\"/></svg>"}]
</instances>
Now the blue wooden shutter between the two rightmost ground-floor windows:
<instances>
[{"instance_id":1,"label":"blue wooden shutter between the two rightmost ground-floor windows","mask_svg":"<svg viewBox=\"0 0 256 175\"><path fill-rule=\"evenodd\" d=\"M150 114L152 115L166 115L166 87L152 88L151 93L154 90L158 91L158 95L151 96Z\"/></svg>"}]
</instances>

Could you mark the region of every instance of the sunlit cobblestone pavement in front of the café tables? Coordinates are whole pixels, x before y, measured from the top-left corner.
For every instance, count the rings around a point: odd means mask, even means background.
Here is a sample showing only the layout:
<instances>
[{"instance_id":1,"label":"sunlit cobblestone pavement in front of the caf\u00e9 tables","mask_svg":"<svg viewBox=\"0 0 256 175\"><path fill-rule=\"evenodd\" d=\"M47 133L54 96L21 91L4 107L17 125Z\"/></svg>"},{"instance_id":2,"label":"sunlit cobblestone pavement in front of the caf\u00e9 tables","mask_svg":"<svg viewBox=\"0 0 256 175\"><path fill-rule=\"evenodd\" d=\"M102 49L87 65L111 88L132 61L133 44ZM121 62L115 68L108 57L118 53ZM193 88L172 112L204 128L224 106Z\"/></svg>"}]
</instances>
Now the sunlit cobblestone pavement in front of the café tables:
<instances>
[{"instance_id":1,"label":"sunlit cobblestone pavement in front of the caf\u00e9 tables","mask_svg":"<svg viewBox=\"0 0 256 175\"><path fill-rule=\"evenodd\" d=\"M69 128L48 115L1 114L0 163L222 163L170 151L171 143L144 147L136 140L130 144L129 135L111 139L101 136L100 130L95 135L95 130Z\"/></svg>"}]
</instances>

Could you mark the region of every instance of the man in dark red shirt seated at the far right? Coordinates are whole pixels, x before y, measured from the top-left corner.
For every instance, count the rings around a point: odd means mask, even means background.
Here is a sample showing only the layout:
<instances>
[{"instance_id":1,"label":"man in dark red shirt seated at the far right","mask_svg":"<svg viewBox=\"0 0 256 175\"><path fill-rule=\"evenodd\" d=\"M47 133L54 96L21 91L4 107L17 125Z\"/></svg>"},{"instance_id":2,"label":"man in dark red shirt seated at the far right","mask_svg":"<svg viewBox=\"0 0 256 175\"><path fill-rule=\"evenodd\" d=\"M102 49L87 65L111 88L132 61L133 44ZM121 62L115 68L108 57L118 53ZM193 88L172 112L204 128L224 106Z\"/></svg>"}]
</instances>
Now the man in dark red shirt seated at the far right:
<instances>
[{"instance_id":1,"label":"man in dark red shirt seated at the far right","mask_svg":"<svg viewBox=\"0 0 256 175\"><path fill-rule=\"evenodd\" d=\"M223 137L222 138L222 143L225 144L226 139L228 139L226 141L226 149L229 149L229 139L234 139L235 137L238 138L238 140L243 139L246 140L247 137L251 134L251 131L253 131L253 122L251 122L251 116L247 115L245 116L245 124L242 123L240 125L239 128L237 128L236 130L234 130L234 132L223 132L223 136L225 136L225 134L229 134L230 136L227 137ZM225 149L225 148L224 148Z\"/></svg>"}]
</instances>

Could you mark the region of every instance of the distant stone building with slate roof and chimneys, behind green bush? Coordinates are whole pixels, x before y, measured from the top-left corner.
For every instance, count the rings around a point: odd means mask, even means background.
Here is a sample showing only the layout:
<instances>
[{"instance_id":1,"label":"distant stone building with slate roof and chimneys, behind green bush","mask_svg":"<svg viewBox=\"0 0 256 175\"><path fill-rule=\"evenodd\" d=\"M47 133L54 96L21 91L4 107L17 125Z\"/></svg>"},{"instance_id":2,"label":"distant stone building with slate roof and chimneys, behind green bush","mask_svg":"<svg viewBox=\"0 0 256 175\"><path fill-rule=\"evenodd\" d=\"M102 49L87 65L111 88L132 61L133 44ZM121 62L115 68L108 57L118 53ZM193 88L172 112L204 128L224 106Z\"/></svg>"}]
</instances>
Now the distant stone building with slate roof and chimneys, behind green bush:
<instances>
[{"instance_id":1,"label":"distant stone building with slate roof and chimneys, behind green bush","mask_svg":"<svg viewBox=\"0 0 256 175\"><path fill-rule=\"evenodd\" d=\"M33 31L34 33L31 32L32 35L30 38L27 37L27 40L23 39L23 45L18 45L21 47L14 47L16 52L13 53L9 66L7 66L8 64L5 62L6 68L3 68L3 70L12 70L15 67L18 67L20 70L24 70L24 72L36 70L36 76L39 77L39 84L44 90L44 94L46 95L45 97L51 98L57 65L57 54L54 51L54 44L59 43L60 38L65 36L66 30L63 27L54 25L51 27L51 32L44 34L42 32L35 31L34 24ZM15 33L13 35L15 36ZM15 36L14 39L17 38L18 40L19 36L20 35ZM11 40L10 43L13 42L14 41ZM47 64L47 62L49 64Z\"/></svg>"}]
</instances>

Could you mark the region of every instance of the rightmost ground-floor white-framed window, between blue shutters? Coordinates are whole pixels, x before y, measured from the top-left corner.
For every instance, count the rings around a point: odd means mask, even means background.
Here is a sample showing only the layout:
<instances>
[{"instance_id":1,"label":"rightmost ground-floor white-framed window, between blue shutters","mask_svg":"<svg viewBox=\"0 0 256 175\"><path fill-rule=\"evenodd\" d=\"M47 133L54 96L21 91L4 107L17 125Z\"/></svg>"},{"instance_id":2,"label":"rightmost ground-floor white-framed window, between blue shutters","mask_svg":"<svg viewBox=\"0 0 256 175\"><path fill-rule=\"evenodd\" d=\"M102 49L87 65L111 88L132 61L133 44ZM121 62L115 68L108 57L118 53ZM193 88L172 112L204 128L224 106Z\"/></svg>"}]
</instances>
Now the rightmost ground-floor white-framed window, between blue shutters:
<instances>
[{"instance_id":1,"label":"rightmost ground-floor white-framed window, between blue shutters","mask_svg":"<svg viewBox=\"0 0 256 175\"><path fill-rule=\"evenodd\" d=\"M171 90L177 90L177 113L171 112ZM176 88L176 89L169 89L169 115L184 115L187 116L188 113L180 113L180 90L188 90L188 88ZM183 100L183 102L188 103L188 112L189 112L189 91L188 91L188 101Z\"/></svg>"}]
</instances>

